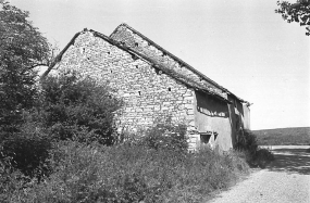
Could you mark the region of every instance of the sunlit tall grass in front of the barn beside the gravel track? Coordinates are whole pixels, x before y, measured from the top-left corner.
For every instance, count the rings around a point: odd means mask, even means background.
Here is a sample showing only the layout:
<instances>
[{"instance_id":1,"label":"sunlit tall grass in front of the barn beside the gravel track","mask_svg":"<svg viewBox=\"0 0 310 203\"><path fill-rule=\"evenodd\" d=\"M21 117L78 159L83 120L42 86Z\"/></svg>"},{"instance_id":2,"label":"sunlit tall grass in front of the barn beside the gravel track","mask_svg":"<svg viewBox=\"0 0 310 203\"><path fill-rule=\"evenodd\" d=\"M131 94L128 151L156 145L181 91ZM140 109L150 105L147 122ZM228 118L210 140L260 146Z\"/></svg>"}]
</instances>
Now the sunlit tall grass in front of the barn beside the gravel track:
<instances>
[{"instance_id":1,"label":"sunlit tall grass in front of the barn beside the gravel track","mask_svg":"<svg viewBox=\"0 0 310 203\"><path fill-rule=\"evenodd\" d=\"M233 152L208 148L190 154L140 144L59 144L51 156L54 173L12 202L200 202L248 172Z\"/></svg>"}]
</instances>

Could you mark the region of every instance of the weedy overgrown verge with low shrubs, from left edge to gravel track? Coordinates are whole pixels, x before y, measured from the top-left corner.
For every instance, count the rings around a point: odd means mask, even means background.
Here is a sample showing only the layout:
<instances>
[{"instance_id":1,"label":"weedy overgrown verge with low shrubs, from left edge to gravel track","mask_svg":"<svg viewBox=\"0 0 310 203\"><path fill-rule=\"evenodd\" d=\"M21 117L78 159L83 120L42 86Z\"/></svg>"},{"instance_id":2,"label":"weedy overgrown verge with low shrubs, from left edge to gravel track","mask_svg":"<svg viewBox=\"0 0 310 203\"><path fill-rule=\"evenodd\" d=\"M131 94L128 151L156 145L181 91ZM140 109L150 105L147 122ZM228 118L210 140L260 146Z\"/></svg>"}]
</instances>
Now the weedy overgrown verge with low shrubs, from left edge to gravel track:
<instances>
[{"instance_id":1,"label":"weedy overgrown verge with low shrubs, from left edge to gravel track","mask_svg":"<svg viewBox=\"0 0 310 203\"><path fill-rule=\"evenodd\" d=\"M195 153L183 134L184 126L157 125L140 140L110 147L54 141L40 179L0 162L0 202L199 203L273 158L251 131L240 131L236 150L203 147Z\"/></svg>"}]
</instances>

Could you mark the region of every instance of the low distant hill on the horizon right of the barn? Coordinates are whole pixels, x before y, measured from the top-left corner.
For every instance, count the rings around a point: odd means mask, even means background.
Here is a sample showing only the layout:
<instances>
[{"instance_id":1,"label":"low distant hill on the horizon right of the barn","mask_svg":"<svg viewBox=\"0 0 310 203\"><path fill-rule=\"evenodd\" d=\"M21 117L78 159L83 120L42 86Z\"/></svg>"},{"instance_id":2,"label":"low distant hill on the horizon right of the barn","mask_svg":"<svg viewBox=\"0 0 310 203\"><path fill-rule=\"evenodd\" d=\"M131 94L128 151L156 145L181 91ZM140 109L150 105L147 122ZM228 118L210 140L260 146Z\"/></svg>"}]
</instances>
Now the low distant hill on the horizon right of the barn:
<instances>
[{"instance_id":1,"label":"low distant hill on the horizon right of the barn","mask_svg":"<svg viewBox=\"0 0 310 203\"><path fill-rule=\"evenodd\" d=\"M310 145L310 127L252 130L260 145Z\"/></svg>"}]
</instances>

